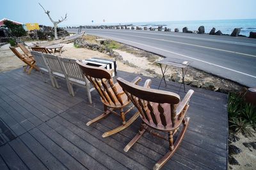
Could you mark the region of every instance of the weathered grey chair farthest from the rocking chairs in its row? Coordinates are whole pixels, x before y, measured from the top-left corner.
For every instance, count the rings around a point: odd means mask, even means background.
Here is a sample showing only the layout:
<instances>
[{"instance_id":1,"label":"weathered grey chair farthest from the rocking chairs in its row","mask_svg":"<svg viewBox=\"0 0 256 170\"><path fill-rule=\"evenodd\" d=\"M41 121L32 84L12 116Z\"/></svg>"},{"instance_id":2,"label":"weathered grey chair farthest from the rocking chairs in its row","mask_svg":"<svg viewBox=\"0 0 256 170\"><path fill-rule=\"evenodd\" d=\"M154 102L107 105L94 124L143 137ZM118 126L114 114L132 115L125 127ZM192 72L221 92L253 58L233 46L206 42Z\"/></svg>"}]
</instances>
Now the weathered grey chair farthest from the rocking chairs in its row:
<instances>
[{"instance_id":1,"label":"weathered grey chair farthest from the rocking chairs in its row","mask_svg":"<svg viewBox=\"0 0 256 170\"><path fill-rule=\"evenodd\" d=\"M48 73L49 74L50 80L51 80L51 83L52 83L52 87L55 87L54 78L52 76L52 71L51 71L50 67L47 64L43 53L32 51L31 55L33 55L33 57L36 61L36 66L40 70L41 76L42 76L43 80L45 81L45 83L46 83L46 80L45 80L42 73Z\"/></svg>"}]
</instances>

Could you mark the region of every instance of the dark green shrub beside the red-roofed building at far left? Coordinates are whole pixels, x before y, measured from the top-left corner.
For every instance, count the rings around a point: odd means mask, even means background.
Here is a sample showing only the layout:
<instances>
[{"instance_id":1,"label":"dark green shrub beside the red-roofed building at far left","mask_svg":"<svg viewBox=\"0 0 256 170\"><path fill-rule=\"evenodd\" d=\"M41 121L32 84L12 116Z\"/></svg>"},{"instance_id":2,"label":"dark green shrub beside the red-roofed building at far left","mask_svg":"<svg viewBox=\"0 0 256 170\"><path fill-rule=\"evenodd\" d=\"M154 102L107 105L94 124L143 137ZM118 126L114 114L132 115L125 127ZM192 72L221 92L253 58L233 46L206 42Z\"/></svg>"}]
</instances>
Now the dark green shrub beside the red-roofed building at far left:
<instances>
[{"instance_id":1,"label":"dark green shrub beside the red-roofed building at far left","mask_svg":"<svg viewBox=\"0 0 256 170\"><path fill-rule=\"evenodd\" d=\"M26 36L27 35L27 32L22 27L22 25L14 24L10 20L5 20L4 25L6 25L6 27L8 27L8 29L10 29L12 36L20 37L20 36Z\"/></svg>"}]
</instances>

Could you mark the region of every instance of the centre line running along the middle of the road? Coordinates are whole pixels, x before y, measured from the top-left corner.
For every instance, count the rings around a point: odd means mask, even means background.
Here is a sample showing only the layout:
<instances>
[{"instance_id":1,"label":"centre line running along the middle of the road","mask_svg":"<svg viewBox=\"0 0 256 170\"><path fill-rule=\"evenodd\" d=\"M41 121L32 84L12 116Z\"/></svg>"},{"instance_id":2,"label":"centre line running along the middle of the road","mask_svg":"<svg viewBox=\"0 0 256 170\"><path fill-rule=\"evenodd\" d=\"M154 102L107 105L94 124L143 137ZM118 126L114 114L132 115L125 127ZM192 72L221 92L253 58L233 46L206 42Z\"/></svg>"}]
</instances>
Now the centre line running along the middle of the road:
<instances>
[{"instance_id":1,"label":"centre line running along the middle of the road","mask_svg":"<svg viewBox=\"0 0 256 170\"><path fill-rule=\"evenodd\" d=\"M105 33L104 31L97 31L97 32ZM212 47L209 47L209 46L193 45L193 44L189 44L189 43L181 43L181 42L178 42L178 41L171 41L171 40L166 40L166 39L149 38L149 37L145 37L145 36L135 36L135 35L129 35L129 34L116 33L116 32L108 32L108 33L110 33L110 34L120 34L120 35L125 35L125 36L133 36L133 37L139 37L139 38L155 39L155 40L158 40L158 41L167 41L167 42L177 43L177 44L182 44L182 45L197 46L197 47L200 47L200 48L207 48L207 49L217 50L217 51L221 51L221 52L229 52L229 53L236 53L236 54L240 54L240 55L246 55L246 56L250 56L250 57L256 57L256 55L251 55L251 54L248 54L248 53L233 52L233 51L229 51L229 50L222 50L222 49L218 49L218 48L212 48Z\"/></svg>"}]
</instances>

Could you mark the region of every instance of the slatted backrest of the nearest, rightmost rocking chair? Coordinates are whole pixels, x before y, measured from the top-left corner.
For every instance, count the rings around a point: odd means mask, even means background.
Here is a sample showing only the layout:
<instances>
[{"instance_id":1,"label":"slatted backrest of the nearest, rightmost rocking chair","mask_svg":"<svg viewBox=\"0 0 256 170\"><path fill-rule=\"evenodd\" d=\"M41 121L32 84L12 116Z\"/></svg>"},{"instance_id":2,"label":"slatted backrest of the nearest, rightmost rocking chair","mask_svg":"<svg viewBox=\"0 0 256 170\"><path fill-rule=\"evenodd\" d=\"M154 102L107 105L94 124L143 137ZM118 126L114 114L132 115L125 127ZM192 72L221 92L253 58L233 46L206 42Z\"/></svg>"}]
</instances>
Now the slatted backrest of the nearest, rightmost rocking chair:
<instances>
[{"instance_id":1,"label":"slatted backrest of the nearest, rightmost rocking chair","mask_svg":"<svg viewBox=\"0 0 256 170\"><path fill-rule=\"evenodd\" d=\"M125 94L138 108L143 122L156 129L170 129L177 119L176 108L179 95L164 90L149 89L117 78Z\"/></svg>"}]
</instances>

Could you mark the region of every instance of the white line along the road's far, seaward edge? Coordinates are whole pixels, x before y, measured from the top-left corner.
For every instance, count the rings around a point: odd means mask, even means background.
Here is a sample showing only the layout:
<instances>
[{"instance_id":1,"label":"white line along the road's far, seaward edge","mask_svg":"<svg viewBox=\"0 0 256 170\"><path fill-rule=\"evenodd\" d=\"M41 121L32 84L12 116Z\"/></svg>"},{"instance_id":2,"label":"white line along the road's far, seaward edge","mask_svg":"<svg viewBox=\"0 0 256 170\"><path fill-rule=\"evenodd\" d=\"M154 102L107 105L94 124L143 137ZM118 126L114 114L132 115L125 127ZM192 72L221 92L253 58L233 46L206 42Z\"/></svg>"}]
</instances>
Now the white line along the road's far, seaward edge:
<instances>
[{"instance_id":1,"label":"white line along the road's far, seaward edge","mask_svg":"<svg viewBox=\"0 0 256 170\"><path fill-rule=\"evenodd\" d=\"M90 31L98 31L98 30L90 30ZM112 30L104 30L104 31L112 31ZM114 31L112 31L114 32ZM120 31L120 32L133 32L133 33L140 33L140 34L153 34L158 36L172 36L172 37L179 37L179 38L186 38L186 39L201 39L204 41L214 41L214 42L221 42L221 43L228 43L228 44L236 44L236 45L247 45L247 46L256 46L256 39L255 43L243 43L238 41L227 41L227 40L221 40L221 39L210 39L210 38L199 38L199 37L193 37L193 36L179 36L179 35L170 35L170 34L161 34L161 33L151 33L151 32L142 32L142 31Z\"/></svg>"}]
</instances>

